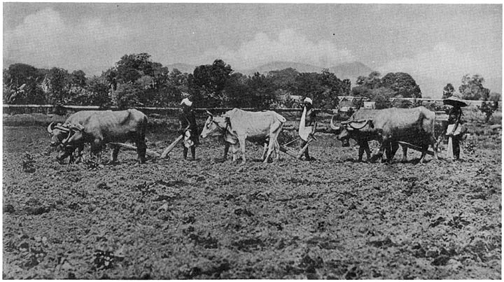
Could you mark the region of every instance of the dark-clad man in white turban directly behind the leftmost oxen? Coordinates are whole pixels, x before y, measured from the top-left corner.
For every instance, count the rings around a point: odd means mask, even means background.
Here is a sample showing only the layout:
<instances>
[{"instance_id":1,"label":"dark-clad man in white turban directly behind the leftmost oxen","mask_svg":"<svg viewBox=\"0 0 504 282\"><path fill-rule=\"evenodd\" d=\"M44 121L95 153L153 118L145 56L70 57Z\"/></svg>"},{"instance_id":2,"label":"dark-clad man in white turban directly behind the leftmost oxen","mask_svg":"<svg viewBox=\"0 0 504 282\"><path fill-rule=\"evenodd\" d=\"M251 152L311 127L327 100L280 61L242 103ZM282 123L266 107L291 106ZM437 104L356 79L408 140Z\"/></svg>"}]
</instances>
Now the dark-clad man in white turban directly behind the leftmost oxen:
<instances>
[{"instance_id":1,"label":"dark-clad man in white turban directly behind the leftmost oxen","mask_svg":"<svg viewBox=\"0 0 504 282\"><path fill-rule=\"evenodd\" d=\"M193 111L193 102L189 97L181 101L181 113L179 115L180 133L183 134L183 157L187 159L188 148L191 149L193 160L196 160L196 146L200 143L197 132L196 117Z\"/></svg>"}]
</instances>

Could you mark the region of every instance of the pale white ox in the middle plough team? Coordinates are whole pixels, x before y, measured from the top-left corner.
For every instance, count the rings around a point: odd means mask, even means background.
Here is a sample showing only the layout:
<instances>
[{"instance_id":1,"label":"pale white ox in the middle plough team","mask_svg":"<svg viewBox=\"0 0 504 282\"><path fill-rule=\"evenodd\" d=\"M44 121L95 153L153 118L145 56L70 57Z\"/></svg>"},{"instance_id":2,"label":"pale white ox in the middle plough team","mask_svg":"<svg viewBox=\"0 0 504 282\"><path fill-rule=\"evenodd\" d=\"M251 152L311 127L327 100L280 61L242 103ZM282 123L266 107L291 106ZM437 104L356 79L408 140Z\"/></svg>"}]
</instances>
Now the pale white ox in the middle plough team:
<instances>
[{"instance_id":1,"label":"pale white ox in the middle plough team","mask_svg":"<svg viewBox=\"0 0 504 282\"><path fill-rule=\"evenodd\" d=\"M279 158L280 146L277 141L278 136L286 119L274 111L248 112L239 108L227 111L222 117L214 117L207 111L209 117L203 127L201 137L223 136L225 141L224 157L228 155L229 147L232 146L232 160L237 160L238 145L241 148L242 163L245 158L245 140L263 141L269 139L265 150L262 153L263 162L267 162L269 156L274 151L276 160Z\"/></svg>"}]
</instances>

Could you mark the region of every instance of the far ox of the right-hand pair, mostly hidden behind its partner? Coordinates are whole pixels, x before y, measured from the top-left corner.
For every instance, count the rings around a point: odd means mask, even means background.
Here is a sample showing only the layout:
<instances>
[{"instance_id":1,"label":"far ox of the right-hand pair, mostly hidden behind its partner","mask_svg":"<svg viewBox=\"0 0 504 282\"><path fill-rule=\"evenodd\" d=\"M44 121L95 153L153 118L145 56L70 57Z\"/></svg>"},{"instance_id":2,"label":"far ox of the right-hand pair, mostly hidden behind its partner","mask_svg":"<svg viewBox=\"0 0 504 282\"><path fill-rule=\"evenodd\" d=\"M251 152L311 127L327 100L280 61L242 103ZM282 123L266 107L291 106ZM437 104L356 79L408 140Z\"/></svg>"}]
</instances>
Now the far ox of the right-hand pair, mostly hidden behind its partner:
<instances>
[{"instance_id":1,"label":"far ox of the right-hand pair, mostly hidden behind its partner","mask_svg":"<svg viewBox=\"0 0 504 282\"><path fill-rule=\"evenodd\" d=\"M372 123L372 118L374 118L377 113L381 110L374 110L370 108L360 108L358 111L351 115L351 118L342 122L343 126L336 126L333 122L335 115L332 116L330 120L330 127L334 129L337 134L337 139L342 141L343 147L350 146L350 139L356 141L359 146L358 151L358 162L362 162L364 152L367 155L367 161L371 160L371 150L369 148L369 141L376 140L379 141L380 136L377 130L374 128ZM395 155L398 150L399 144L397 142L391 142L391 146L386 148L386 156L390 160ZM407 147L402 146L402 161L407 160Z\"/></svg>"}]
</instances>

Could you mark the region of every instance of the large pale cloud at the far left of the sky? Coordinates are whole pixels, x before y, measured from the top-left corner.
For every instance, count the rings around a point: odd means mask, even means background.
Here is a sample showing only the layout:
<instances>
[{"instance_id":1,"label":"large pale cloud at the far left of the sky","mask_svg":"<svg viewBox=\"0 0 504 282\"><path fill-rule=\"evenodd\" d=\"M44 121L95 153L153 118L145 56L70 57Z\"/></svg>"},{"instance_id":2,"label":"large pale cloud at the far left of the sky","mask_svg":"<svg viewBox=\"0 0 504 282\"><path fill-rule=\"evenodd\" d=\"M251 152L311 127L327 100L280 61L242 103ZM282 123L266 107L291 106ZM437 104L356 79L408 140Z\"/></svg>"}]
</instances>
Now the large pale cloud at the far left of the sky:
<instances>
[{"instance_id":1,"label":"large pale cloud at the far left of the sky","mask_svg":"<svg viewBox=\"0 0 504 282\"><path fill-rule=\"evenodd\" d=\"M3 34L3 58L50 68L105 70L124 55L125 29L113 22L88 19L66 22L52 8L28 15ZM125 44L125 45L123 45Z\"/></svg>"}]
</instances>

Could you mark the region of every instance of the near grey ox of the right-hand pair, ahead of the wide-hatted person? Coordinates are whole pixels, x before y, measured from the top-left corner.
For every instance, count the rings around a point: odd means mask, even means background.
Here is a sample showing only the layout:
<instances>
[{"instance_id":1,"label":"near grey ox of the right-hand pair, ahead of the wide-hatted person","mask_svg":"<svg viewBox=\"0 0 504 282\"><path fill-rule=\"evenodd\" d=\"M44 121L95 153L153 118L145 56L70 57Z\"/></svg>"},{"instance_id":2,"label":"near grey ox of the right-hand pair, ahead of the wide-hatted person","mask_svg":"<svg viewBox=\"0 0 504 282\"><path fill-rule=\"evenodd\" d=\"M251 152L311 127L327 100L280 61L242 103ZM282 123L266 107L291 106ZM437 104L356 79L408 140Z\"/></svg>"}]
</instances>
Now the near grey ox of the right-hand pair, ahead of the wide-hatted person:
<instances>
[{"instance_id":1,"label":"near grey ox of the right-hand pair, ahead of the wide-hatted person","mask_svg":"<svg viewBox=\"0 0 504 282\"><path fill-rule=\"evenodd\" d=\"M384 150L387 149L388 162L391 162L389 155L392 156L395 153L398 148L397 143L405 142L421 150L419 162L422 163L429 145L433 146L433 155L437 160L434 122L435 113L420 106L417 108L386 108L374 113L372 118L354 122L352 126L360 127L367 123L367 126L372 128L370 132L377 134L380 148L378 153L372 157L372 160L381 157ZM405 160L407 148L405 146L402 148L403 160Z\"/></svg>"}]
</instances>

